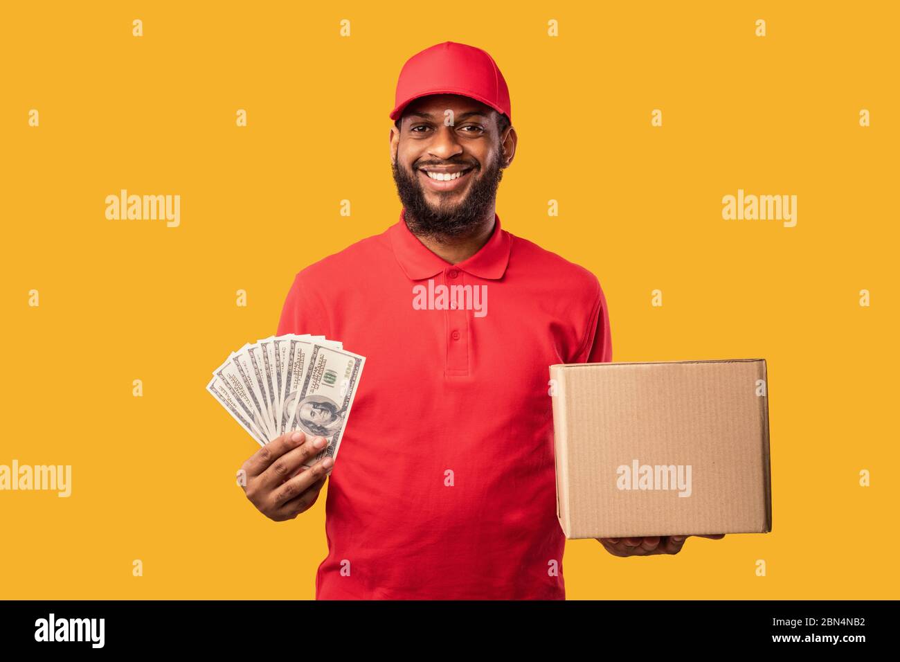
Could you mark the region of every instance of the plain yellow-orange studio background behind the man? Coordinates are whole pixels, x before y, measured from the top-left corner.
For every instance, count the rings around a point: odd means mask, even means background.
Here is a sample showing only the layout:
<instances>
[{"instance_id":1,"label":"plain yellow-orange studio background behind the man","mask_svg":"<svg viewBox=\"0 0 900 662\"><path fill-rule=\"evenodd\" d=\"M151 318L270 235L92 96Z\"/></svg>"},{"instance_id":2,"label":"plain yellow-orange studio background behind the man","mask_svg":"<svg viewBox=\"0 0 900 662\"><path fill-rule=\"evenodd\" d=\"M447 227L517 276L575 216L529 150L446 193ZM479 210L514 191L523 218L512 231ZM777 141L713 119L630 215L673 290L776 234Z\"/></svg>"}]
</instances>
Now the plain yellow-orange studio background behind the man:
<instances>
[{"instance_id":1,"label":"plain yellow-orange studio background behind the man","mask_svg":"<svg viewBox=\"0 0 900 662\"><path fill-rule=\"evenodd\" d=\"M257 444L205 385L275 333L297 271L397 221L393 87L446 40L507 78L498 213L598 275L614 360L769 361L774 531L675 557L570 541L568 597L896 597L895 3L0 11L0 464L73 466L68 499L0 493L0 597L314 596L324 492L257 513L234 482ZM121 188L181 195L180 227L106 220ZM797 227L724 221L738 188L797 195Z\"/></svg>"}]
</instances>

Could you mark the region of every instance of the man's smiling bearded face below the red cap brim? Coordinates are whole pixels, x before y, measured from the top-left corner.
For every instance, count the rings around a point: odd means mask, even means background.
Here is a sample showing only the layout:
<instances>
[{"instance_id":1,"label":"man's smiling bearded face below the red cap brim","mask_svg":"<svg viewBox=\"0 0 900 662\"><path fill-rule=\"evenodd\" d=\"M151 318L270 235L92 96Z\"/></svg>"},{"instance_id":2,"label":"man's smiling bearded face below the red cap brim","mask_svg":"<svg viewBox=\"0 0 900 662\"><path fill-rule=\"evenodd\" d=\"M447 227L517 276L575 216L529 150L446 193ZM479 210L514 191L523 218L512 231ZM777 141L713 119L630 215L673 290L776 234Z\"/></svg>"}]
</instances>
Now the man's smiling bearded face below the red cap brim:
<instances>
[{"instance_id":1,"label":"man's smiling bearded face below the red cap brim","mask_svg":"<svg viewBox=\"0 0 900 662\"><path fill-rule=\"evenodd\" d=\"M490 212L515 150L515 130L500 136L498 114L461 95L429 95L404 109L391 134L392 170L410 230L458 236Z\"/></svg>"}]
</instances>

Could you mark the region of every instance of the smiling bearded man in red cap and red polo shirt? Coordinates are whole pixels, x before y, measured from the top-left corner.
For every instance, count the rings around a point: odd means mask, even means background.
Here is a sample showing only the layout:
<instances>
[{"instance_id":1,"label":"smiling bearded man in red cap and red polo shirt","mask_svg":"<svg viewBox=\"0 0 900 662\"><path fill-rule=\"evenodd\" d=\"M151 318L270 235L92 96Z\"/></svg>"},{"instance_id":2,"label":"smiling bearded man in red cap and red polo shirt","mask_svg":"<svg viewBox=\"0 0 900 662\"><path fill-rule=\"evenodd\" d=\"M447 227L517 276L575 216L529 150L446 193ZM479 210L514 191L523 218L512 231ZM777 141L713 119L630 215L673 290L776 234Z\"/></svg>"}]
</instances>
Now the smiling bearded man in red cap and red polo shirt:
<instances>
[{"instance_id":1,"label":"smiling bearded man in red cap and red polo shirt","mask_svg":"<svg viewBox=\"0 0 900 662\"><path fill-rule=\"evenodd\" d=\"M563 599L548 367L612 359L606 299L588 270L500 227L518 138L488 53L446 41L413 56L391 119L400 221L302 269L277 331L366 357L316 597ZM423 285L478 288L490 306L435 296L423 309ZM250 501L279 521L309 509L331 462L294 473L321 441L294 432L260 449L244 466ZM600 542L643 556L684 537Z\"/></svg>"}]
</instances>

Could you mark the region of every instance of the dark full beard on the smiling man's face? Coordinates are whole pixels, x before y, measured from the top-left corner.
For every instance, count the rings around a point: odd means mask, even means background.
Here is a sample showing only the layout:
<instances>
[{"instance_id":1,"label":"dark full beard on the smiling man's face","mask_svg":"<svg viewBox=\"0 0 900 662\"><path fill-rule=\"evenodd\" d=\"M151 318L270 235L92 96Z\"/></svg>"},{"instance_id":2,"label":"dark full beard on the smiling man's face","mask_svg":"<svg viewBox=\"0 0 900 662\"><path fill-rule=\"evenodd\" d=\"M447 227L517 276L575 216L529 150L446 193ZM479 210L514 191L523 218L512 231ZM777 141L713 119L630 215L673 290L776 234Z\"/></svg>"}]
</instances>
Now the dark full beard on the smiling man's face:
<instances>
[{"instance_id":1,"label":"dark full beard on the smiling man's face","mask_svg":"<svg viewBox=\"0 0 900 662\"><path fill-rule=\"evenodd\" d=\"M503 168L500 168L498 156L482 172L481 177L476 177L481 168L478 166L473 168L470 173L473 182L462 200L455 205L447 205L444 199L446 194L438 193L441 202L435 209L425 199L425 191L422 188L424 185L419 182L418 169L413 170L410 177L406 168L401 168L399 162L394 161L392 170L397 195L400 195L401 203L406 210L405 218L410 232L437 240L459 237L475 230L495 203L497 187L503 178Z\"/></svg>"}]
</instances>

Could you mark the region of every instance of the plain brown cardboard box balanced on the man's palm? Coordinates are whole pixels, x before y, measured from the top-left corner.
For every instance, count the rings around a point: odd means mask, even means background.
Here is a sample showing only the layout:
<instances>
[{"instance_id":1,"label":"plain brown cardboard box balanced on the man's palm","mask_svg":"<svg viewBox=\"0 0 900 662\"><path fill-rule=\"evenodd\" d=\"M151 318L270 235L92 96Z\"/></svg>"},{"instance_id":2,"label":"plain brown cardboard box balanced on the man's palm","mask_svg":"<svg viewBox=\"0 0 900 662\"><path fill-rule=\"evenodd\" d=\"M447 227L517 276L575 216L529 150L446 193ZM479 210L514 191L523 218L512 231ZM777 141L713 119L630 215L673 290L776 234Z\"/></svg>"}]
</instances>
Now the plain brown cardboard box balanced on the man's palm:
<instances>
[{"instance_id":1,"label":"plain brown cardboard box balanced on the man's palm","mask_svg":"<svg viewBox=\"0 0 900 662\"><path fill-rule=\"evenodd\" d=\"M762 358L550 367L566 538L772 529Z\"/></svg>"}]
</instances>

